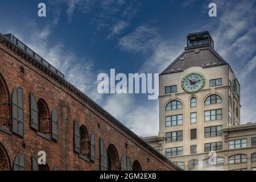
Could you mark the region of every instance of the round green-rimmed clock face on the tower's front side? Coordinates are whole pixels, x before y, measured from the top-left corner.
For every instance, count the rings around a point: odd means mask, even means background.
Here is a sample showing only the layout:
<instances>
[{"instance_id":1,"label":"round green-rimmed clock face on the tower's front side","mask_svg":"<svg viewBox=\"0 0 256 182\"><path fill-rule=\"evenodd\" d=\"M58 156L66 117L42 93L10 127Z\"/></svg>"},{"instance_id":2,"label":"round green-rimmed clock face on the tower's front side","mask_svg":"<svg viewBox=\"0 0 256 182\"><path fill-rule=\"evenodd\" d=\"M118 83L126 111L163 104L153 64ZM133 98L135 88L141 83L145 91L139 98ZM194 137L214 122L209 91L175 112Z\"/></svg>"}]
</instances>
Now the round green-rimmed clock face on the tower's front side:
<instances>
[{"instance_id":1,"label":"round green-rimmed clock face on the tower's front side","mask_svg":"<svg viewBox=\"0 0 256 182\"><path fill-rule=\"evenodd\" d=\"M189 73L189 75L185 76L181 85L185 92L187 93L195 93L198 92L201 88L203 88L205 84L205 77L201 73Z\"/></svg>"}]
</instances>

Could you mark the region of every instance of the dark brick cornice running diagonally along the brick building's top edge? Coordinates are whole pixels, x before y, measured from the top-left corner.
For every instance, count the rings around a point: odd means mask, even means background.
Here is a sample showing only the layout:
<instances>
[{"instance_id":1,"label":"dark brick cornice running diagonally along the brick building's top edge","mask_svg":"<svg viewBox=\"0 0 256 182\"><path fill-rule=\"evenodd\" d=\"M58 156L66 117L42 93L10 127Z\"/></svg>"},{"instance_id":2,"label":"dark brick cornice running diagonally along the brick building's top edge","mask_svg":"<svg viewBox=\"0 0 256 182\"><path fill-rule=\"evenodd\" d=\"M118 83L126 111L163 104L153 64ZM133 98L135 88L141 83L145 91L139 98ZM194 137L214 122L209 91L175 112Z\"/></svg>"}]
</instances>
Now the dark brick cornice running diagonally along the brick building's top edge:
<instances>
[{"instance_id":1,"label":"dark brick cornice running diagonally along the brick building's top edge","mask_svg":"<svg viewBox=\"0 0 256 182\"><path fill-rule=\"evenodd\" d=\"M153 147L151 147L149 144L144 142L144 140L141 137L138 137L133 131L128 129L125 125L123 125L121 122L119 122L117 119L115 119L111 114L109 114L106 110L104 110L101 106L96 104L92 99L90 99L88 96L86 96L84 93L82 93L79 89L77 89L75 86L73 86L71 83L69 83L64 78L61 78L57 76L55 73L50 71L48 68L44 67L44 65L38 63L33 57L28 55L26 52L24 52L22 49L20 49L15 44L9 42L9 40L5 39L5 37L0 34L0 44L7 47L11 52L15 53L15 55L18 55L23 60L27 61L28 64L32 65L36 69L39 69L44 75L51 78L53 81L55 81L57 84L60 85L61 88L67 90L68 92L72 93L73 96L76 96L80 101L84 102L87 107L90 107L90 109L93 109L96 111L96 113L100 114L102 117L104 117L107 121L114 124L114 126L121 129L127 137L135 140L138 144L146 148L146 150L152 152L155 156L157 156L160 160L167 163L172 168L175 168L177 170L180 170L179 167L177 167L175 164L173 164L169 159L167 159L164 155L160 154L158 151L156 151Z\"/></svg>"}]
</instances>

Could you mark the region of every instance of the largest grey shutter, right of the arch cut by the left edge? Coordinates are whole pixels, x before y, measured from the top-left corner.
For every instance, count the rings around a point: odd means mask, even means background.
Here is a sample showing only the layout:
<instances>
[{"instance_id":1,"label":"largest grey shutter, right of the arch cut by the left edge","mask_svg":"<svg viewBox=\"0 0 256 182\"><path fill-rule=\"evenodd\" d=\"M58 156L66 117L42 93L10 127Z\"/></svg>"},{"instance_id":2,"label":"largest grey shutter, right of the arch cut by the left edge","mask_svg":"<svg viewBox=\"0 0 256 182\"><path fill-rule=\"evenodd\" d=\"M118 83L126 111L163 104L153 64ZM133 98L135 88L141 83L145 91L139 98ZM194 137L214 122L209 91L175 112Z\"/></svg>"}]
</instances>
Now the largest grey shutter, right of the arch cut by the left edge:
<instances>
[{"instance_id":1,"label":"largest grey shutter, right of the arch cut by the left edge","mask_svg":"<svg viewBox=\"0 0 256 182\"><path fill-rule=\"evenodd\" d=\"M16 133L23 137L24 135L24 118L23 118L23 90L16 88L13 92L12 98L12 121L13 121L13 133Z\"/></svg>"}]
</instances>

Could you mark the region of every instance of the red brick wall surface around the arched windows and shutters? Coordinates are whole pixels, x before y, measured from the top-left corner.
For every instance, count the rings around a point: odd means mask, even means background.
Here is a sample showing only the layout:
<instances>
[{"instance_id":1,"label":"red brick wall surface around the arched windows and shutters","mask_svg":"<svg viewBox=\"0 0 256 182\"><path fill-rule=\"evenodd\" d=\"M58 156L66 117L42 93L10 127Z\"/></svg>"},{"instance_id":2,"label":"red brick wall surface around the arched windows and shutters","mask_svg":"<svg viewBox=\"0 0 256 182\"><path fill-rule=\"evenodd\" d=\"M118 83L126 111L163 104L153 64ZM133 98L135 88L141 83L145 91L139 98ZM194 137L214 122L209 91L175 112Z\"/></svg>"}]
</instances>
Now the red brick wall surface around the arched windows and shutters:
<instances>
[{"instance_id":1,"label":"red brick wall surface around the arched windows and shutters","mask_svg":"<svg viewBox=\"0 0 256 182\"><path fill-rule=\"evenodd\" d=\"M122 126L113 122L113 118L104 113L102 109L95 106L93 102L81 96L67 82L56 78L51 72L36 64L34 60L28 59L18 49L10 47L2 38L0 39L0 75L7 85L7 92L10 94L15 88L23 88L24 97L24 137L16 134L8 134L0 130L0 143L7 151L7 158L10 160L11 168L15 156L20 152L26 154L26 169L31 169L31 158L37 156L38 151L46 151L47 165L49 169L55 166L59 170L99 170L100 169L100 138L104 140L110 154L116 154L117 159L112 159L113 170L120 167L122 155L130 157L131 162L139 162L142 169L172 170L175 169L166 158L157 155L148 146L134 138L133 135ZM24 73L20 72L20 67ZM1 78L1 77L0 77ZM0 102L10 100L6 93L5 84L0 81ZM30 92L34 93L36 100L43 99L48 107L49 113L58 109L59 117L59 140L57 142L40 137L30 127ZM7 124L10 119L11 106L0 105L0 127L10 129ZM79 126L84 126L88 137L95 134L96 160L87 162L79 157L73 150L74 125L77 119ZM98 127L100 125L100 127ZM43 126L48 127L48 126ZM11 131L11 130L10 130ZM88 140L84 140L85 147L82 151L86 153ZM127 144L127 145L126 145ZM0 150L0 160L4 159ZM148 162L149 159L149 162ZM2 163L1 165L4 165ZM5 167L0 167L3 169Z\"/></svg>"}]
</instances>

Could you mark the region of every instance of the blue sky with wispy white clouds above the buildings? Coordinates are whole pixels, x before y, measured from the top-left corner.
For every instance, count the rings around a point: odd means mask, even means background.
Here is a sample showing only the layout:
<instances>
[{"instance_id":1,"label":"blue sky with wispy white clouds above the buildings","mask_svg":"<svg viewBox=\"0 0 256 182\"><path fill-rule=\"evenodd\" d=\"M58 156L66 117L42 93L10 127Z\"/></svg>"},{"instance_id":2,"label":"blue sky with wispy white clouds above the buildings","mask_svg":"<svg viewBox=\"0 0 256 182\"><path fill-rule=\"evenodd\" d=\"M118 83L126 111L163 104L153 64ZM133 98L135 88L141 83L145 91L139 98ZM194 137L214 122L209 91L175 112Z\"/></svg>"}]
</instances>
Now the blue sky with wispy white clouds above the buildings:
<instances>
[{"instance_id":1,"label":"blue sky with wispy white clouds above the buildings","mask_svg":"<svg viewBox=\"0 0 256 182\"><path fill-rule=\"evenodd\" d=\"M46 4L46 17L38 4ZM209 3L217 17L209 17ZM256 0L2 1L0 32L26 43L65 78L142 137L158 135L158 100L99 94L99 73L160 73L208 30L241 84L241 123L256 122Z\"/></svg>"}]
</instances>

